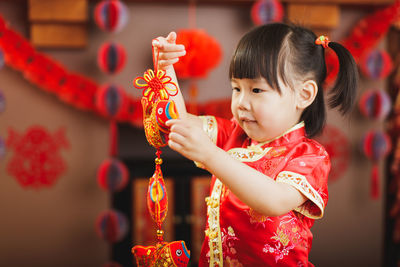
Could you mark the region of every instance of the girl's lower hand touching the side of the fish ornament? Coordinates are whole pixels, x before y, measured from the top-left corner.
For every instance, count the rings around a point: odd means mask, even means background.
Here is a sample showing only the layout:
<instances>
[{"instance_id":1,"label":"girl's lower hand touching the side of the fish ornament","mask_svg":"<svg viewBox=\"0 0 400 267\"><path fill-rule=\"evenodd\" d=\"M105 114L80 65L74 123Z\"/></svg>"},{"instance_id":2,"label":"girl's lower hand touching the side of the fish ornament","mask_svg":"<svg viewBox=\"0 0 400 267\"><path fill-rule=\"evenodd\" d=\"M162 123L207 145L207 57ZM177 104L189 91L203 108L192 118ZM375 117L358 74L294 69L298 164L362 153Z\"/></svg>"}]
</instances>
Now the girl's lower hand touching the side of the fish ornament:
<instances>
[{"instance_id":1,"label":"girl's lower hand touching the side of the fish ornament","mask_svg":"<svg viewBox=\"0 0 400 267\"><path fill-rule=\"evenodd\" d=\"M169 120L171 126L168 145L184 157L206 165L205 162L216 148L214 143L199 125L197 117Z\"/></svg>"}]
</instances>

